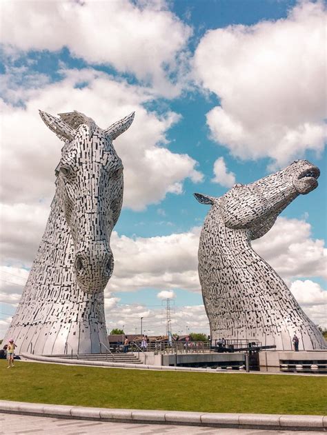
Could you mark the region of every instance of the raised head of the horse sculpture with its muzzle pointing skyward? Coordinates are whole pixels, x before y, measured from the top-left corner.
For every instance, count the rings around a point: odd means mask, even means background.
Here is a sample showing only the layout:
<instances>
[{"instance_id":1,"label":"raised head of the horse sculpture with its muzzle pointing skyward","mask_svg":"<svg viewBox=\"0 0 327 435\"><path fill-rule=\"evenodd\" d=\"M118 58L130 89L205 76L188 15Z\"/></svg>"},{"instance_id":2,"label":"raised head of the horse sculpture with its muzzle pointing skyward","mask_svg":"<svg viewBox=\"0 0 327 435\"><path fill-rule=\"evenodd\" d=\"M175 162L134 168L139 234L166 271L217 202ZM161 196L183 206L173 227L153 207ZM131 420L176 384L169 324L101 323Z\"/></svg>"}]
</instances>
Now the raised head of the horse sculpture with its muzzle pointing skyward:
<instances>
[{"instance_id":1,"label":"raised head of the horse sculpture with its muzzle pointing skyward","mask_svg":"<svg viewBox=\"0 0 327 435\"><path fill-rule=\"evenodd\" d=\"M224 196L214 198L195 194L202 204L211 204L212 211L234 230L249 230L251 240L259 239L274 225L277 216L299 194L317 188L319 168L307 160L296 160L287 168L250 184L236 184Z\"/></svg>"}]
</instances>

